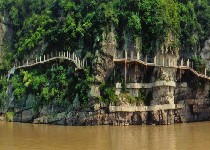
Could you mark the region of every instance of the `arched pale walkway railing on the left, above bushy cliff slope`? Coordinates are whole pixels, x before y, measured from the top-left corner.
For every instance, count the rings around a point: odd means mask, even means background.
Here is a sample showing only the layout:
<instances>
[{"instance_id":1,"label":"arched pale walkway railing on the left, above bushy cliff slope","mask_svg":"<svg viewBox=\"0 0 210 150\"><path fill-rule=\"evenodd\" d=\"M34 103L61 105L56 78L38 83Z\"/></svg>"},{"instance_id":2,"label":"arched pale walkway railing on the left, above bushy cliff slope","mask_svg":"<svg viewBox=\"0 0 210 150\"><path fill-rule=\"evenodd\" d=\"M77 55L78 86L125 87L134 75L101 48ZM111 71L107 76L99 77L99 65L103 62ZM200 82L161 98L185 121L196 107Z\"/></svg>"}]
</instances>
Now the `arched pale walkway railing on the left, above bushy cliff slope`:
<instances>
[{"instance_id":1,"label":"arched pale walkway railing on the left, above bushy cliff slope","mask_svg":"<svg viewBox=\"0 0 210 150\"><path fill-rule=\"evenodd\" d=\"M28 59L23 62L15 63L14 68L15 69L26 68L30 66L35 66L37 64L43 64L56 59L65 59L71 61L79 69L87 66L87 62L84 59L80 60L79 57L77 57L76 54L74 53L71 54L70 52L56 52L36 57L35 59Z\"/></svg>"}]
</instances>

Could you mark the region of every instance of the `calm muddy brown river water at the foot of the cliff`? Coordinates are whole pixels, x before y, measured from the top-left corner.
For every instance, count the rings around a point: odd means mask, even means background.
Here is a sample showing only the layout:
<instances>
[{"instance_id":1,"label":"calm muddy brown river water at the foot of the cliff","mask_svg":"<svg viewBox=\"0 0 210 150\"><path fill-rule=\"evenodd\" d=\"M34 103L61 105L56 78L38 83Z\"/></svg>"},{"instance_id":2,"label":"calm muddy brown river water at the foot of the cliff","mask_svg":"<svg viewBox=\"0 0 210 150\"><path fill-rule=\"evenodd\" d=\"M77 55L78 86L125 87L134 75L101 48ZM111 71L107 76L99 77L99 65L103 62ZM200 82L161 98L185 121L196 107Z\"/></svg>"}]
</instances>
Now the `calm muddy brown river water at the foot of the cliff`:
<instances>
[{"instance_id":1,"label":"calm muddy brown river water at the foot of the cliff","mask_svg":"<svg viewBox=\"0 0 210 150\"><path fill-rule=\"evenodd\" d=\"M55 126L0 122L0 150L209 150L210 122Z\"/></svg>"}]
</instances>

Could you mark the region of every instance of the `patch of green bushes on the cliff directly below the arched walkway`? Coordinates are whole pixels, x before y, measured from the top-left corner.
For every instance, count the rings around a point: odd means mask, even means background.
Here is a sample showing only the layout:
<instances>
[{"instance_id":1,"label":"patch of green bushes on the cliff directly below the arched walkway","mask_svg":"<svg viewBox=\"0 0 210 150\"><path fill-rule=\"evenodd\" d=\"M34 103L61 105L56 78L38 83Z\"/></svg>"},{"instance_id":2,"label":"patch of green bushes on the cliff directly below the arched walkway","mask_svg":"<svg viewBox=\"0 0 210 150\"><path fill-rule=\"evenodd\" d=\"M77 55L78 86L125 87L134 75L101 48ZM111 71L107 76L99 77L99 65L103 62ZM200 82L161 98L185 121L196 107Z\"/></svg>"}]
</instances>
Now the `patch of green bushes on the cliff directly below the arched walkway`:
<instances>
[{"instance_id":1,"label":"patch of green bushes on the cliff directly below the arched walkway","mask_svg":"<svg viewBox=\"0 0 210 150\"><path fill-rule=\"evenodd\" d=\"M64 67L66 64L54 64L39 70L20 70L9 82L13 85L16 104L21 106L32 93L36 97L36 108L44 104L51 104L67 108L74 100L76 93L81 102L88 100L89 85L93 81L88 69L75 72L72 67Z\"/></svg>"}]
</instances>

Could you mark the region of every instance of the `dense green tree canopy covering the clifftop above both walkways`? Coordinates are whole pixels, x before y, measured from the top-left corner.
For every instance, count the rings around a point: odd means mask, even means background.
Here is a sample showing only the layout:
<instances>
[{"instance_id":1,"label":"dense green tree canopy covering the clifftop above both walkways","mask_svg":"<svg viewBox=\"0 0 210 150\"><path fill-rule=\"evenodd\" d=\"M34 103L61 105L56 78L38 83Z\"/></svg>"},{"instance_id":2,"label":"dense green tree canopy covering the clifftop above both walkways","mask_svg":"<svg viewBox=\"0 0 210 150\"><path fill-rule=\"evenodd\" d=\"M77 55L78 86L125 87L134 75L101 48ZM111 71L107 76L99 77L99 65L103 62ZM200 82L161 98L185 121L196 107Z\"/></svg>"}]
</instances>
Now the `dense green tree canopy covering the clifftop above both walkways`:
<instances>
[{"instance_id":1,"label":"dense green tree canopy covering the clifftop above both walkways","mask_svg":"<svg viewBox=\"0 0 210 150\"><path fill-rule=\"evenodd\" d=\"M110 25L119 41L123 31L141 37L144 52L169 32L181 52L200 52L210 35L208 0L0 0L0 10L14 32L13 60L43 43L48 51L94 51Z\"/></svg>"}]
</instances>

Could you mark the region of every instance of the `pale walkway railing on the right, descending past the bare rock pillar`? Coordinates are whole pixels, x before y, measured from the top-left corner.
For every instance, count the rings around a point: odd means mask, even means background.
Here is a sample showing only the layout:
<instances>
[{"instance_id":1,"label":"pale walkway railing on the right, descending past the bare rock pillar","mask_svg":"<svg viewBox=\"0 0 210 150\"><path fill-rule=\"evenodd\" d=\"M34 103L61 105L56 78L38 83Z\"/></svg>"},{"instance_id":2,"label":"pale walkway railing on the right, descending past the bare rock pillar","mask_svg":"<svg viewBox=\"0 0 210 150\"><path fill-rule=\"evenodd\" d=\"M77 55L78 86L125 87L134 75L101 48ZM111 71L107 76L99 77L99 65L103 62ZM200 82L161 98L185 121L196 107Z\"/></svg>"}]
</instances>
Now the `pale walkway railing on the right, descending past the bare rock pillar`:
<instances>
[{"instance_id":1,"label":"pale walkway railing on the right, descending past the bare rock pillar","mask_svg":"<svg viewBox=\"0 0 210 150\"><path fill-rule=\"evenodd\" d=\"M138 62L145 66L162 66L162 67L172 67L172 68L179 68L181 70L190 70L193 74L197 75L198 77L202 77L205 79L210 80L210 77L206 75L206 68L204 70L204 73L198 73L196 70L193 69L193 63L190 62L188 59L187 61L184 61L181 59L179 63L176 63L175 60L167 59L167 63L165 63L164 58L160 61L162 64L157 63L157 57L154 58L147 58L144 57L139 52L127 52L127 51L118 51L114 54L113 58L114 62Z\"/></svg>"}]
</instances>

